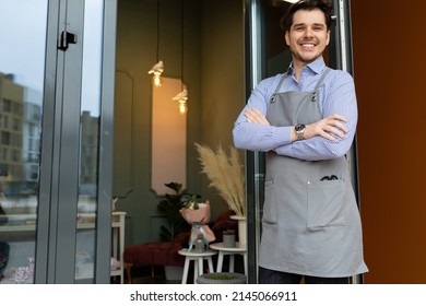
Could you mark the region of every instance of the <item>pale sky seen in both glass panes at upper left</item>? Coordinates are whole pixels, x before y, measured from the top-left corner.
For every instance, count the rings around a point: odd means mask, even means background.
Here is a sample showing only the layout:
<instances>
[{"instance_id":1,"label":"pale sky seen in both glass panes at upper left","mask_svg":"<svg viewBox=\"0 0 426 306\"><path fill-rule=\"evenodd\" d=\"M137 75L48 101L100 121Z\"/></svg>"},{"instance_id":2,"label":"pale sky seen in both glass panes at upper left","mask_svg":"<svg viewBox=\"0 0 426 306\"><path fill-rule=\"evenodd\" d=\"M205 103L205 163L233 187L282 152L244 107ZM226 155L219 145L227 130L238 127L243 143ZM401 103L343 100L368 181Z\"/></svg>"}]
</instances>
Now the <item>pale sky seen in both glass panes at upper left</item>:
<instances>
[{"instance_id":1,"label":"pale sky seen in both glass panes at upper left","mask_svg":"<svg viewBox=\"0 0 426 306\"><path fill-rule=\"evenodd\" d=\"M0 72L43 96L48 0L0 0ZM85 1L82 110L99 114L103 0ZM35 101L33 101L35 102ZM37 99L40 103L42 99Z\"/></svg>"}]
</instances>

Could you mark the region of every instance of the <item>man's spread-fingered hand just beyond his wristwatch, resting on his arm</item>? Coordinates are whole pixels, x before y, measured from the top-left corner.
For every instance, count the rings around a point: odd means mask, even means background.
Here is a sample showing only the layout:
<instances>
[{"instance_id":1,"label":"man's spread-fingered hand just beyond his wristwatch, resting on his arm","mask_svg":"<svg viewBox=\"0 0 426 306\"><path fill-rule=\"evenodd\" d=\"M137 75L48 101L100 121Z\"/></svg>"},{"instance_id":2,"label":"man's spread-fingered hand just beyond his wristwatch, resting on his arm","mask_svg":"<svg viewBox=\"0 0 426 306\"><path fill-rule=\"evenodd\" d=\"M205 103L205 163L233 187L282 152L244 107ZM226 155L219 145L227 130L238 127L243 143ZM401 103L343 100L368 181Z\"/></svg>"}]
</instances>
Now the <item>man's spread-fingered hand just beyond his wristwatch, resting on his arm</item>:
<instances>
[{"instance_id":1,"label":"man's spread-fingered hand just beyond his wristwatch, resting on his arm","mask_svg":"<svg viewBox=\"0 0 426 306\"><path fill-rule=\"evenodd\" d=\"M335 141L335 137L344 138L348 132L348 129L343 122L347 122L345 117L338 114L330 115L329 117L306 126L305 139L320 136L328 140Z\"/></svg>"}]
</instances>

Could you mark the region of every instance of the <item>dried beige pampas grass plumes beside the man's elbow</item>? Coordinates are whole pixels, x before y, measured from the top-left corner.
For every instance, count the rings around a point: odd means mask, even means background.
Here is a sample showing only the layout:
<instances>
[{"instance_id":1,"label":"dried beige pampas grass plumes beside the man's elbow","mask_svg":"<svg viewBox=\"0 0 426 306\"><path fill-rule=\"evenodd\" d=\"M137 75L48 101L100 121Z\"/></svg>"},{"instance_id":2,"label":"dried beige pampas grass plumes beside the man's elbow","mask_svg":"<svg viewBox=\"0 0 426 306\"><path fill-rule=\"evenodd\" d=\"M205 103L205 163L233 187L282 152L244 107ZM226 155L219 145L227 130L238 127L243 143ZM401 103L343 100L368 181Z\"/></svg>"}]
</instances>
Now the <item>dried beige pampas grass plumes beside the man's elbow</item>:
<instances>
[{"instance_id":1,"label":"dried beige pampas grass plumes beside the man's elbow","mask_svg":"<svg viewBox=\"0 0 426 306\"><path fill-rule=\"evenodd\" d=\"M209 187L214 187L236 215L246 215L246 193L242 165L237 149L229 148L229 156L220 144L216 151L196 142L201 173L208 175Z\"/></svg>"}]
</instances>

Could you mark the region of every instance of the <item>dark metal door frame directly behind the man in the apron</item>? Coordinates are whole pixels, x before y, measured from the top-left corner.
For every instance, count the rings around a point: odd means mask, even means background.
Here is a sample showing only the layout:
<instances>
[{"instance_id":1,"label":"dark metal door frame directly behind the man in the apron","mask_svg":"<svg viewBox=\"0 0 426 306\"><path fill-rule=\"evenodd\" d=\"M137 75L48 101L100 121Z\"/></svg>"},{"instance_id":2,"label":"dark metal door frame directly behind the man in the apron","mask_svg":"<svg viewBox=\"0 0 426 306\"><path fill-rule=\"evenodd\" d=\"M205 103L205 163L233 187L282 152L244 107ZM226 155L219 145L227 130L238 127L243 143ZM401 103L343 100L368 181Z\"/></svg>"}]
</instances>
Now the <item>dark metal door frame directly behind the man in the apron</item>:
<instances>
[{"instance_id":1,"label":"dark metal door frame directly behind the man in the apron","mask_svg":"<svg viewBox=\"0 0 426 306\"><path fill-rule=\"evenodd\" d=\"M264 17L262 0L246 0L246 99L255 86L265 78ZM353 74L351 35L351 0L333 0L335 27L331 31L330 67ZM355 196L359 205L358 161L356 137L347 154ZM248 283L258 283L258 254L260 246L261 212L264 186L264 153L246 151L247 252ZM363 283L363 275L354 275L354 283Z\"/></svg>"}]
</instances>

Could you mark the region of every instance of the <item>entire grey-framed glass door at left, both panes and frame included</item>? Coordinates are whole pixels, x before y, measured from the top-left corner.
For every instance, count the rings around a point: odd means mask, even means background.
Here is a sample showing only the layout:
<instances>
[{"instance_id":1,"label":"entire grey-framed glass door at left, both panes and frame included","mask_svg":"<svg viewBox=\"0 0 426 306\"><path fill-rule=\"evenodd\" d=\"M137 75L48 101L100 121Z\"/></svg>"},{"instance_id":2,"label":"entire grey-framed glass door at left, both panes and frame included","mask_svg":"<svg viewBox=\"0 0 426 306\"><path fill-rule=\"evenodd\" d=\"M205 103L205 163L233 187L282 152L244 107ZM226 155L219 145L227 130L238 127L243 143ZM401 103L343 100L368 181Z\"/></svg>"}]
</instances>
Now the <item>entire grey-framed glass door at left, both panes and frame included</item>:
<instances>
[{"instance_id":1,"label":"entire grey-framed glass door at left, both panes and frame included","mask_svg":"<svg viewBox=\"0 0 426 306\"><path fill-rule=\"evenodd\" d=\"M1 282L109 283L116 1L0 5Z\"/></svg>"}]
</instances>

